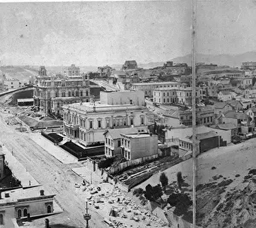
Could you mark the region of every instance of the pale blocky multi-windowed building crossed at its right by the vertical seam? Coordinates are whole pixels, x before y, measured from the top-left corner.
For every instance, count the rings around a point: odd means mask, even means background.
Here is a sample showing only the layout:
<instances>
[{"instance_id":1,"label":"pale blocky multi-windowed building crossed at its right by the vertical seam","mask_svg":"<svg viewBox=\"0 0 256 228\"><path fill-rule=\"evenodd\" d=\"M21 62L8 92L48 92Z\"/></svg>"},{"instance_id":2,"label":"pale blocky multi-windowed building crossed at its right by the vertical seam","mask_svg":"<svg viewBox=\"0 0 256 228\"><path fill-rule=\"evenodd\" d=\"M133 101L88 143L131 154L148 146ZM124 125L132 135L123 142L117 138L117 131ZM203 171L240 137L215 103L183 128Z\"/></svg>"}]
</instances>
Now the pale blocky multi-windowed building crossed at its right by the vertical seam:
<instances>
[{"instance_id":1,"label":"pale blocky multi-windowed building crossed at its right by the vertical seam","mask_svg":"<svg viewBox=\"0 0 256 228\"><path fill-rule=\"evenodd\" d=\"M202 89L196 88L196 103L203 99ZM178 103L192 105L192 88L180 86L179 88L155 88L153 94L154 102L160 104Z\"/></svg>"}]
</instances>

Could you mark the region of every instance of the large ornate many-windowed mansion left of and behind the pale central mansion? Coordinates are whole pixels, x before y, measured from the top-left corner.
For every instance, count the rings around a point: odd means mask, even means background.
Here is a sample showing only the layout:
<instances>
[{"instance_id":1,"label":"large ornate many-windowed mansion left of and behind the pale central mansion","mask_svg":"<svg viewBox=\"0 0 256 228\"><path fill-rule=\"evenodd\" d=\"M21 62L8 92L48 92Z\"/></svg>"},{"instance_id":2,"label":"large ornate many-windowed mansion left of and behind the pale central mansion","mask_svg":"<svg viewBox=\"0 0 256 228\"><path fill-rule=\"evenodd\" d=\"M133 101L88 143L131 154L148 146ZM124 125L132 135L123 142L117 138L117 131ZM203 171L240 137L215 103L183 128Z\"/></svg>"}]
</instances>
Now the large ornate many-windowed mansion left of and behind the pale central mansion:
<instances>
[{"instance_id":1,"label":"large ornate many-windowed mansion left of and behind the pale central mansion","mask_svg":"<svg viewBox=\"0 0 256 228\"><path fill-rule=\"evenodd\" d=\"M37 77L34 105L46 114L62 116L62 105L90 100L89 75L76 77Z\"/></svg>"}]
</instances>

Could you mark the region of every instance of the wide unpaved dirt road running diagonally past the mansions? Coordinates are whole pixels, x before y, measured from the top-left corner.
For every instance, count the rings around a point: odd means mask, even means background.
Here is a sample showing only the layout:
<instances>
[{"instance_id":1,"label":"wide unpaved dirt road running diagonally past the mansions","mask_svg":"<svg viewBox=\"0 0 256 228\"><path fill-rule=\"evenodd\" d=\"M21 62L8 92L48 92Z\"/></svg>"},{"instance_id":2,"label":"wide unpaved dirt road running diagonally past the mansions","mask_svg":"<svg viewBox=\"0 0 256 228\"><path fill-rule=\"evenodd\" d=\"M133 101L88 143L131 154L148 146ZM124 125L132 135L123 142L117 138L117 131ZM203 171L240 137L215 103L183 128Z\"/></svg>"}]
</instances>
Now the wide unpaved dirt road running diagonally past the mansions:
<instances>
[{"instance_id":1,"label":"wide unpaved dirt road running diagonally past the mansions","mask_svg":"<svg viewBox=\"0 0 256 228\"><path fill-rule=\"evenodd\" d=\"M56 195L55 199L66 211L65 214L71 220L71 224L76 225L77 228L84 227L85 199L75 191L74 187L74 184L80 183L81 179L71 170L81 164L67 165L59 162L32 141L27 133L17 132L4 123L1 112L0 141L9 150L14 151L14 156L41 185L44 185L44 189ZM90 227L107 227L102 216L95 211L90 211L90 214Z\"/></svg>"}]
</instances>

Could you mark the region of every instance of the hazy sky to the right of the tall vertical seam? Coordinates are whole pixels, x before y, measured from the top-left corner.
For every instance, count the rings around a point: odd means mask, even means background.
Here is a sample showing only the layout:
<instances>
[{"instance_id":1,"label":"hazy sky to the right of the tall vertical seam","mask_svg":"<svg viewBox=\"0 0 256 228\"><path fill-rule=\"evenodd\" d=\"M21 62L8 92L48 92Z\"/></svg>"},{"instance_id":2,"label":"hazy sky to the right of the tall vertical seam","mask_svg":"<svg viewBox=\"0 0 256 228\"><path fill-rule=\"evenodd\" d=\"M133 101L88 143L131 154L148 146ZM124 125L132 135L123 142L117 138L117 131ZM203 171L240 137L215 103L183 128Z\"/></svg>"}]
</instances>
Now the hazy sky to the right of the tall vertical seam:
<instances>
[{"instance_id":1,"label":"hazy sky to the right of the tall vertical seam","mask_svg":"<svg viewBox=\"0 0 256 228\"><path fill-rule=\"evenodd\" d=\"M197 51L241 54L256 51L256 1L197 2Z\"/></svg>"}]
</instances>

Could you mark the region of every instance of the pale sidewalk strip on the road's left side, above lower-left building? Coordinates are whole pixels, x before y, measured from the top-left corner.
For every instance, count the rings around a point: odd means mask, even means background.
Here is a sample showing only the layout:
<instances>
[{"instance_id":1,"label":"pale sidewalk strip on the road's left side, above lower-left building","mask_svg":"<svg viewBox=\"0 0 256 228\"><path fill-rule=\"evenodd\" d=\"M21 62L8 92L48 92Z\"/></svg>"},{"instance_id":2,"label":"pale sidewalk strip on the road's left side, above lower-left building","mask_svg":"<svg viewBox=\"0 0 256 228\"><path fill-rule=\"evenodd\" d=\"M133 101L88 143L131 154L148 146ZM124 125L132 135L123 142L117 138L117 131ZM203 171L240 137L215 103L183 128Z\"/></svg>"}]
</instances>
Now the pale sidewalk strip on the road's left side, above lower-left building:
<instances>
[{"instance_id":1,"label":"pale sidewalk strip on the road's left side, above lower-left building","mask_svg":"<svg viewBox=\"0 0 256 228\"><path fill-rule=\"evenodd\" d=\"M9 151L5 145L3 145L3 153L5 154L5 161L8 162L8 166L14 176L20 180L23 188L38 186L40 185L37 180L35 180L29 172L26 171L26 168L12 155L12 152Z\"/></svg>"}]
</instances>

